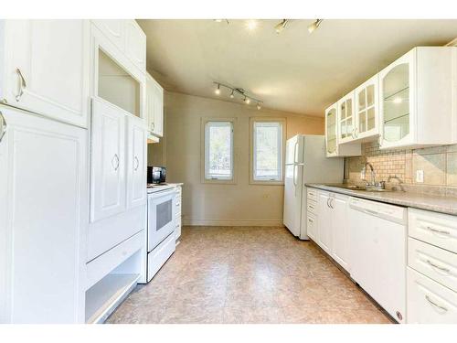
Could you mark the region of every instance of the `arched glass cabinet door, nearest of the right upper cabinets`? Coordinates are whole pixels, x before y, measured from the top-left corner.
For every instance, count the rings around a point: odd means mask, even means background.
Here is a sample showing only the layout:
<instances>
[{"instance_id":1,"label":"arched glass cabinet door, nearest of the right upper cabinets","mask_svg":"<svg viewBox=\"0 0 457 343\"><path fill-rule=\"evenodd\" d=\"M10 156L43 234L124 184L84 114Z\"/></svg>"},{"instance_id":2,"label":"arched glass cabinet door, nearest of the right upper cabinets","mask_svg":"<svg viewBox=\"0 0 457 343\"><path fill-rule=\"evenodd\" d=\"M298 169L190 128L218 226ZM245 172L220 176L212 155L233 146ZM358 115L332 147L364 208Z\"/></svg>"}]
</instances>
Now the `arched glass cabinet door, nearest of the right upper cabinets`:
<instances>
[{"instance_id":1,"label":"arched glass cabinet door, nearest of the right upper cabinets","mask_svg":"<svg viewBox=\"0 0 457 343\"><path fill-rule=\"evenodd\" d=\"M407 54L379 74L382 147L407 145L410 140L412 59Z\"/></svg>"}]
</instances>

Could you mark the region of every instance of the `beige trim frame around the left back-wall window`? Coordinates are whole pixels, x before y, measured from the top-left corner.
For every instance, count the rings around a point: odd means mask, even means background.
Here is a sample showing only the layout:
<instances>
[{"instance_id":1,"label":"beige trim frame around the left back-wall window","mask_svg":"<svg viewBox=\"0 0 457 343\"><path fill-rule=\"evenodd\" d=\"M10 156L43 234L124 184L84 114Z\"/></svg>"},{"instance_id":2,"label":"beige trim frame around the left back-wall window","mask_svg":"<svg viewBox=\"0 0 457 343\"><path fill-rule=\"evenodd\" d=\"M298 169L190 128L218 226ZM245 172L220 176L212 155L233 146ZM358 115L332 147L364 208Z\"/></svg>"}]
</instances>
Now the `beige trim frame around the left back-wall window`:
<instances>
[{"instance_id":1,"label":"beige trim frame around the left back-wall window","mask_svg":"<svg viewBox=\"0 0 457 343\"><path fill-rule=\"evenodd\" d=\"M207 178L207 123L231 123L231 155L230 155L230 161L231 161L231 177L218 177L218 178ZM201 141L201 173L200 173L200 181L201 183L207 183L207 184L236 184L237 179L236 179L236 166L237 166L237 161L236 161L236 145L235 145L235 135L236 135L236 123L237 119L236 118L202 118L201 120L201 130L200 130L200 141Z\"/></svg>"}]
</instances>

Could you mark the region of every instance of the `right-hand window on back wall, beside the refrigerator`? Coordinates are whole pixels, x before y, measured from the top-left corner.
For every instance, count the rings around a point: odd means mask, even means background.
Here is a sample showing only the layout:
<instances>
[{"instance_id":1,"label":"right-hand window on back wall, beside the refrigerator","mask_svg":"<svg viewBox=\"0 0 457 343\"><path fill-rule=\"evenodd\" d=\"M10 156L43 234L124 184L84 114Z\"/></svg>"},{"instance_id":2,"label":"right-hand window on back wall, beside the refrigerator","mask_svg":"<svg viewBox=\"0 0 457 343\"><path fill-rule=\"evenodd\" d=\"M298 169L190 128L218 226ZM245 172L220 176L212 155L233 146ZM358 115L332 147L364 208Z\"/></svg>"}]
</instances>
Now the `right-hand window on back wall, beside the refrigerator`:
<instances>
[{"instance_id":1,"label":"right-hand window on back wall, beside the refrigerator","mask_svg":"<svg viewBox=\"0 0 457 343\"><path fill-rule=\"evenodd\" d=\"M252 180L282 182L283 120L251 123Z\"/></svg>"}]
</instances>

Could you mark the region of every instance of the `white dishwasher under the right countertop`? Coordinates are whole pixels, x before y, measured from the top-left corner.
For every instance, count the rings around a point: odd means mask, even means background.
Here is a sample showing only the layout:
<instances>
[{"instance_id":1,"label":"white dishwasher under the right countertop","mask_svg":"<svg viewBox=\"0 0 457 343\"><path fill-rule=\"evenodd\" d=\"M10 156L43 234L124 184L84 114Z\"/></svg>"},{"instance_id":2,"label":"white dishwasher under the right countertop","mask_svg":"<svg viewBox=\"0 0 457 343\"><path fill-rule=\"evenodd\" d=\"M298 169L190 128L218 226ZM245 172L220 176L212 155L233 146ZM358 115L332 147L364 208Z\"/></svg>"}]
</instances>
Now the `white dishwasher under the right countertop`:
<instances>
[{"instance_id":1,"label":"white dishwasher under the right countertop","mask_svg":"<svg viewBox=\"0 0 457 343\"><path fill-rule=\"evenodd\" d=\"M399 323L406 318L407 209L349 198L351 277Z\"/></svg>"}]
</instances>

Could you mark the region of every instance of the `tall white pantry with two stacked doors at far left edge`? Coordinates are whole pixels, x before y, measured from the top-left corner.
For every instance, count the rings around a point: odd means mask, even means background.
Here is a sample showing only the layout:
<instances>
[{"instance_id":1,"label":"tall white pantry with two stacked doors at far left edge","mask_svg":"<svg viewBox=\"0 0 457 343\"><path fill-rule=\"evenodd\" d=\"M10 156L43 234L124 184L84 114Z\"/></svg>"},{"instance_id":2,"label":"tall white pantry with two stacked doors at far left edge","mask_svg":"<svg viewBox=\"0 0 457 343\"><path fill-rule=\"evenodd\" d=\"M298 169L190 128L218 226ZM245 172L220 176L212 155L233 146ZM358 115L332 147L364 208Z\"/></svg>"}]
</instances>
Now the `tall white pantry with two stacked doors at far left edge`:
<instances>
[{"instance_id":1,"label":"tall white pantry with two stacked doors at far left edge","mask_svg":"<svg viewBox=\"0 0 457 343\"><path fill-rule=\"evenodd\" d=\"M0 323L84 321L89 41L0 21Z\"/></svg>"}]
</instances>

